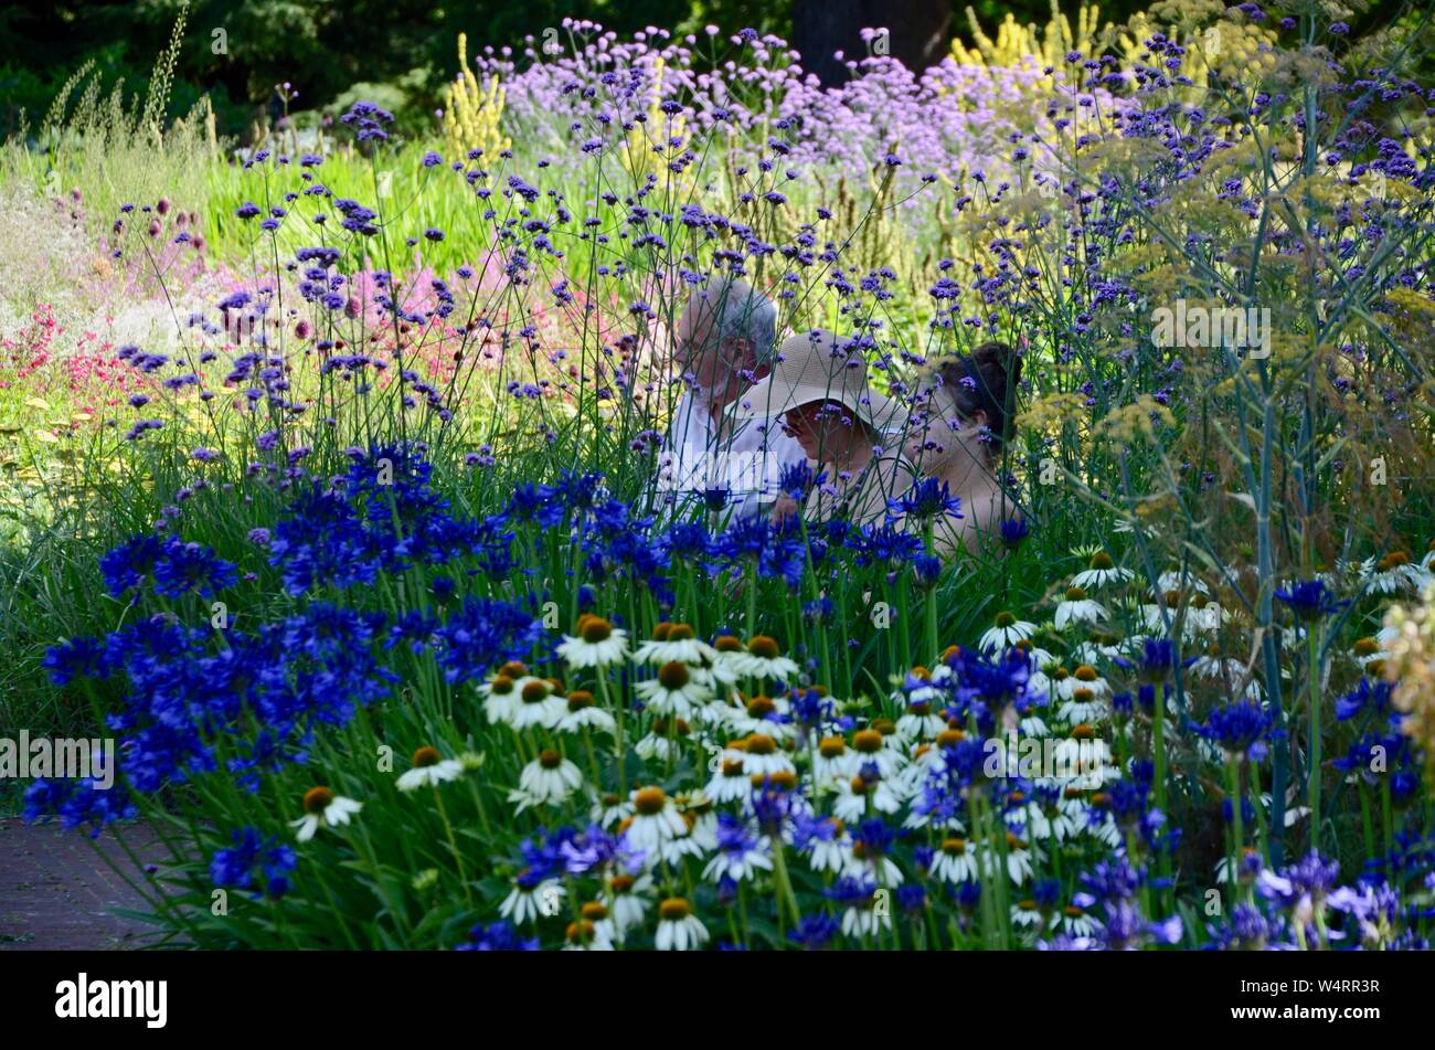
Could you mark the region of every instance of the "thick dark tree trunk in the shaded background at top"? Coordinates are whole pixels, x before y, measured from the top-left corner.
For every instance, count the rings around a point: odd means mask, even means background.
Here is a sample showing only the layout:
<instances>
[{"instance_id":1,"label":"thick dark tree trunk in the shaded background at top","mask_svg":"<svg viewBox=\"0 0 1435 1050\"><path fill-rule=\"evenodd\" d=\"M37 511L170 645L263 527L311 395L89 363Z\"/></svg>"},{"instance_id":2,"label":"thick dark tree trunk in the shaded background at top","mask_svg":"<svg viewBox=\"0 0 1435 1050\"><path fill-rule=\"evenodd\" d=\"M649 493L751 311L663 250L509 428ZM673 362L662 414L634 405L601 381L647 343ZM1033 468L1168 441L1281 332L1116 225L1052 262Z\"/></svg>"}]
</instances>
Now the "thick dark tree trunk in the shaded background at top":
<instances>
[{"instance_id":1,"label":"thick dark tree trunk in the shaded background at top","mask_svg":"<svg viewBox=\"0 0 1435 1050\"><path fill-rule=\"evenodd\" d=\"M848 79L847 62L865 57L862 29L887 29L887 53L920 73L946 57L951 44L951 0L794 0L792 46L802 69L825 86ZM883 43L872 42L874 53ZM834 57L842 52L842 59Z\"/></svg>"}]
</instances>

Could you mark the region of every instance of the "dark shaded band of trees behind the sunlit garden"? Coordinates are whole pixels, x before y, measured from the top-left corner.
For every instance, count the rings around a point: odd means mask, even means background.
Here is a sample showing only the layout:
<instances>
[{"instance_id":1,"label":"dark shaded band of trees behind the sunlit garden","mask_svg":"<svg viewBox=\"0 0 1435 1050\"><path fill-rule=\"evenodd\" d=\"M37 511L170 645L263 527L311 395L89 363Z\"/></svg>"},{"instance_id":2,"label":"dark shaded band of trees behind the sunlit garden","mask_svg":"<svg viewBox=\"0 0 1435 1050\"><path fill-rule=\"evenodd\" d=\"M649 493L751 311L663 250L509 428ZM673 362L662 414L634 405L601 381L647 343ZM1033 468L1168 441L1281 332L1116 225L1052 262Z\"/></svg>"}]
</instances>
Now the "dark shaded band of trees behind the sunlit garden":
<instances>
[{"instance_id":1,"label":"dark shaded band of trees behind the sunlit garden","mask_svg":"<svg viewBox=\"0 0 1435 1050\"><path fill-rule=\"evenodd\" d=\"M1105 0L1102 22L1125 20L1151 0ZM485 43L519 47L525 34L541 36L564 16L593 19L627 33L643 26L674 32L703 24L736 32L752 26L792 40L805 66L828 82L845 75L831 59L865 55L864 26L891 30L891 53L926 66L947 53L951 36L969 37L964 0L192 0L188 30L171 99L182 113L208 93L221 129L241 133L276 103L274 86L290 82L300 109L330 109L354 85L387 85L413 115L432 110L439 85L458 69L459 30L471 47ZM1007 11L1043 24L1049 0L973 0L984 29L994 30ZM181 0L44 0L0 4L0 133L13 131L20 110L33 126L65 79L93 57L106 90L123 77L125 89L145 89L155 56L169 37ZM1060 0L1069 16L1078 0ZM1358 32L1398 3L1378 3L1358 20ZM224 30L227 55L215 55L214 30Z\"/></svg>"}]
</instances>

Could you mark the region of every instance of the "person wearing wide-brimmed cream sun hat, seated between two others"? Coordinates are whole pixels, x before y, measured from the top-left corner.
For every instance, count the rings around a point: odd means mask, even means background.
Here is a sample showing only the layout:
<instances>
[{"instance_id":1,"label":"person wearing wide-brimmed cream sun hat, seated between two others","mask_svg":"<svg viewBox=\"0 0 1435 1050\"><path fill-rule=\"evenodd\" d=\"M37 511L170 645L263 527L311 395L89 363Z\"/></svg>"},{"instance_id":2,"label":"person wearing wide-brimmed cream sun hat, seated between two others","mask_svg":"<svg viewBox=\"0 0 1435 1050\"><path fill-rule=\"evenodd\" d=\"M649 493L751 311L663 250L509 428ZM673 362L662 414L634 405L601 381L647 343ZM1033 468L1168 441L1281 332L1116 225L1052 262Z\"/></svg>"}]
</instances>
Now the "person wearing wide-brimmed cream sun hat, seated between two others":
<instances>
[{"instance_id":1,"label":"person wearing wide-brimmed cream sun hat, seated between two others","mask_svg":"<svg viewBox=\"0 0 1435 1050\"><path fill-rule=\"evenodd\" d=\"M917 478L900 442L884 448L884 435L900 426L898 407L868 384L861 350L814 328L782 343L772 372L732 412L738 419L781 419L817 473L827 473L806 498L805 518L870 525L881 524L887 501Z\"/></svg>"}]
</instances>

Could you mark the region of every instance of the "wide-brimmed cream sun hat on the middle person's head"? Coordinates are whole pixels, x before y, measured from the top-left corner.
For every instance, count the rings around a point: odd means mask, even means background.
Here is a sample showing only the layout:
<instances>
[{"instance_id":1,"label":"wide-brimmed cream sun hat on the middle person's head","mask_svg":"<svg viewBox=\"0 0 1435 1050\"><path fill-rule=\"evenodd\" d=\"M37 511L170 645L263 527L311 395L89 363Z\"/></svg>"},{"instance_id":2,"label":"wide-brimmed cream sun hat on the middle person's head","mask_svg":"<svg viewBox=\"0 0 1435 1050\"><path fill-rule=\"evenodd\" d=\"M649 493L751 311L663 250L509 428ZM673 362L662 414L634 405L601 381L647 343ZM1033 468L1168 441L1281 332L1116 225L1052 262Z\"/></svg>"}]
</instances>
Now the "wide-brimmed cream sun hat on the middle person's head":
<instances>
[{"instance_id":1,"label":"wide-brimmed cream sun hat on the middle person's head","mask_svg":"<svg viewBox=\"0 0 1435 1050\"><path fill-rule=\"evenodd\" d=\"M763 379L732 407L736 419L781 419L812 402L838 402L874 430L893 426L897 402L872 390L862 351L842 344L831 331L791 336L778 347Z\"/></svg>"}]
</instances>

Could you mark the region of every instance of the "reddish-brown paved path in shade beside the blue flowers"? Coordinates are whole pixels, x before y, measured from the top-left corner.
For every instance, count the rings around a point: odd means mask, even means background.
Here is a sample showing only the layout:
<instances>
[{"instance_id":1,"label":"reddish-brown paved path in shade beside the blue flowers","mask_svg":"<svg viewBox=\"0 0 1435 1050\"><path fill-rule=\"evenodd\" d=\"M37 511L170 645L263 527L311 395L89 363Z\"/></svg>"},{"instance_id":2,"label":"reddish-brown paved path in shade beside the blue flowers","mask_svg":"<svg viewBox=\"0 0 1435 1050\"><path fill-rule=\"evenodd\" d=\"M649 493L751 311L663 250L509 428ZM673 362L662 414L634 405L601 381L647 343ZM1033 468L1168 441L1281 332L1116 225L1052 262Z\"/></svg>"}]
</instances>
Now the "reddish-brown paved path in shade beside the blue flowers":
<instances>
[{"instance_id":1,"label":"reddish-brown paved path in shade beside the blue flowers","mask_svg":"<svg viewBox=\"0 0 1435 1050\"><path fill-rule=\"evenodd\" d=\"M122 833L144 862L168 856L149 828L125 825ZM85 832L59 825L0 819L0 951L139 948L155 940L155 927L115 915L115 908L145 909L145 902L93 845L133 872L110 829L90 843ZM131 878L144 884L138 872Z\"/></svg>"}]
</instances>

